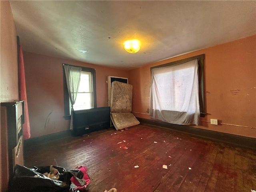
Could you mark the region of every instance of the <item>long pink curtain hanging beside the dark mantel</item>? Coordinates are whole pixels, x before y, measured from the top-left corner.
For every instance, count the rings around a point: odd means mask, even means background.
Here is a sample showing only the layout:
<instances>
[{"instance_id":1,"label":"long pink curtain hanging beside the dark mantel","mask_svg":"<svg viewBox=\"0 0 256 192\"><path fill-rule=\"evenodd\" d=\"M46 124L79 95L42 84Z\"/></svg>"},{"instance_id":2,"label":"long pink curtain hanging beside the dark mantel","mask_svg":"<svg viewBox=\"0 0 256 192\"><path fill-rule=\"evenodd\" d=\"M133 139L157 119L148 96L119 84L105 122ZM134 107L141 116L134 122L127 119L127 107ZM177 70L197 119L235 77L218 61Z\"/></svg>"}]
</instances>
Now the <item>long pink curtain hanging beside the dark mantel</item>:
<instances>
[{"instance_id":1,"label":"long pink curtain hanging beside the dark mantel","mask_svg":"<svg viewBox=\"0 0 256 192\"><path fill-rule=\"evenodd\" d=\"M23 61L22 46L20 45L19 51L19 83L20 83L20 100L24 100L25 106L25 123L23 124L23 138L30 138L30 124L28 117L28 102L27 102L27 92L26 92L26 82L25 82L25 69Z\"/></svg>"}]
</instances>

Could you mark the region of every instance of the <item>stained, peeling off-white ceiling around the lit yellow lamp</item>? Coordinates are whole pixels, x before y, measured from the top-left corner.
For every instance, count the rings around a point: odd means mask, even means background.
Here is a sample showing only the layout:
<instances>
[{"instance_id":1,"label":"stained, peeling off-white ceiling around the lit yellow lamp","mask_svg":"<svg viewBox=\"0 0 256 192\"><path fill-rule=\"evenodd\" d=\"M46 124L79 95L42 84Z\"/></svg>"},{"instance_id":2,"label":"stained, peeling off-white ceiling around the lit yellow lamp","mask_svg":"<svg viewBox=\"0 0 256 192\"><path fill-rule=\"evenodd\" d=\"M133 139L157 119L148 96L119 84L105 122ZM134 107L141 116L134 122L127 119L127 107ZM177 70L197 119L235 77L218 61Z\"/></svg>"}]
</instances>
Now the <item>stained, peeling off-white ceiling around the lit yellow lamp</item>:
<instances>
[{"instance_id":1,"label":"stained, peeling off-white ceiling around the lit yellow lamp","mask_svg":"<svg viewBox=\"0 0 256 192\"><path fill-rule=\"evenodd\" d=\"M132 69L256 34L256 1L10 1L24 51ZM138 53L124 50L141 41Z\"/></svg>"}]
</instances>

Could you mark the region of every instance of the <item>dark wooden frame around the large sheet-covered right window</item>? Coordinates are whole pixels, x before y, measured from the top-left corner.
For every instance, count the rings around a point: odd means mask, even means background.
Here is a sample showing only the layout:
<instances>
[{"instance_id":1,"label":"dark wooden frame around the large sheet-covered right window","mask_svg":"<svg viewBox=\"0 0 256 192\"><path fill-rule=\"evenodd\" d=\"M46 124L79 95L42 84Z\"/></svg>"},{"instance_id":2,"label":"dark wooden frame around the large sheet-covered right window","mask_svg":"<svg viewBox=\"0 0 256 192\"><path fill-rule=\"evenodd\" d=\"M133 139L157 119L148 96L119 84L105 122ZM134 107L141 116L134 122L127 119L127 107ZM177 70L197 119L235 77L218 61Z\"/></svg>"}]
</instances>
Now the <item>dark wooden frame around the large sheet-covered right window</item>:
<instances>
[{"instance_id":1,"label":"dark wooden frame around the large sheet-covered right window","mask_svg":"<svg viewBox=\"0 0 256 192\"><path fill-rule=\"evenodd\" d=\"M200 106L200 116L204 117L206 115L205 112L205 100L204 100L204 54L177 60L174 62L154 66L150 68L150 72L152 72L152 69L154 68L161 68L161 67L167 67L167 66L173 66L173 65L179 65L183 64L192 60L198 60L198 84L199 84L199 106Z\"/></svg>"}]
</instances>

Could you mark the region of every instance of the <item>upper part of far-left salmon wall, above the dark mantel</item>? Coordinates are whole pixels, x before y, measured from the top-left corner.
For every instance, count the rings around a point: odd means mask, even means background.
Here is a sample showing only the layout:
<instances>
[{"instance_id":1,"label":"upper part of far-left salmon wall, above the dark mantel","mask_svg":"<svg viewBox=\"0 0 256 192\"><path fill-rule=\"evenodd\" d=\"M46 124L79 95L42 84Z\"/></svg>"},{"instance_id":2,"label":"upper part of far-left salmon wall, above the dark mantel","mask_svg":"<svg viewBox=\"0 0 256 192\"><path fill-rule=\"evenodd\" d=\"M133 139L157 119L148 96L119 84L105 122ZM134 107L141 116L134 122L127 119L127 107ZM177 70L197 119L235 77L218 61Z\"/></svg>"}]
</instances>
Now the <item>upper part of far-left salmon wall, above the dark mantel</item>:
<instances>
[{"instance_id":1,"label":"upper part of far-left salmon wall, above the dark mantel","mask_svg":"<svg viewBox=\"0 0 256 192\"><path fill-rule=\"evenodd\" d=\"M18 100L17 35L9 1L1 1L0 102Z\"/></svg>"}]
</instances>

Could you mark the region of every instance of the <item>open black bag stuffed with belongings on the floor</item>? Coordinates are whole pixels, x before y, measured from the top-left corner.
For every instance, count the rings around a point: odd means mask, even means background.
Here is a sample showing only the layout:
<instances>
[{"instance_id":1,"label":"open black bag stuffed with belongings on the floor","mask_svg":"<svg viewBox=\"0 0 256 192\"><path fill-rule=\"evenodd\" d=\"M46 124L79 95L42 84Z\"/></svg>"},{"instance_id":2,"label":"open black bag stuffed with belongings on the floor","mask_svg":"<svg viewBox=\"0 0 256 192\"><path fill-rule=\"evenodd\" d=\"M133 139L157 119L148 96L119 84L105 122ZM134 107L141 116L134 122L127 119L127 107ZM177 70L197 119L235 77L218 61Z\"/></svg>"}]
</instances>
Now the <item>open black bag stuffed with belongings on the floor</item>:
<instances>
[{"instance_id":1,"label":"open black bag stuffed with belongings on the floor","mask_svg":"<svg viewBox=\"0 0 256 192\"><path fill-rule=\"evenodd\" d=\"M59 172L58 180L50 179L43 175L49 172L50 166L34 167L15 165L14 176L9 181L8 192L74 192L70 178L76 176L83 178L80 170L68 170L63 167L53 166Z\"/></svg>"}]
</instances>

